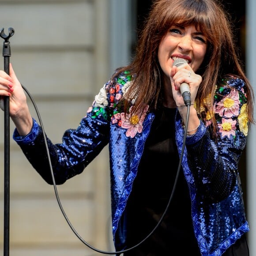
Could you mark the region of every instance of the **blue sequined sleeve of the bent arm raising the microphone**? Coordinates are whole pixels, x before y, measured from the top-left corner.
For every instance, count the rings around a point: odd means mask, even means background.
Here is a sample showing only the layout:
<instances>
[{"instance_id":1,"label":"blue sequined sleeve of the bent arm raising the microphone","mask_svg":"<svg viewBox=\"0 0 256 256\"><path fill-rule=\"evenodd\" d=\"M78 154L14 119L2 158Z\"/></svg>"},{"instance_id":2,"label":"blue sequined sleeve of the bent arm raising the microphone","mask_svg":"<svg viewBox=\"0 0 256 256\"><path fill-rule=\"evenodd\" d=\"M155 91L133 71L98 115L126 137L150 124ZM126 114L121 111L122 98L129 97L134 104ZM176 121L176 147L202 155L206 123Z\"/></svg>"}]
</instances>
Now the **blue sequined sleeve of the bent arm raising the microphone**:
<instances>
[{"instance_id":1,"label":"blue sequined sleeve of the bent arm raising the microphone","mask_svg":"<svg viewBox=\"0 0 256 256\"><path fill-rule=\"evenodd\" d=\"M217 137L211 129L211 115L206 113L204 124L201 122L203 127L186 138L188 166L199 184L200 194L211 201L229 196L237 181L241 185L238 163L248 133L246 102L244 81L227 80L215 93Z\"/></svg>"}]
</instances>

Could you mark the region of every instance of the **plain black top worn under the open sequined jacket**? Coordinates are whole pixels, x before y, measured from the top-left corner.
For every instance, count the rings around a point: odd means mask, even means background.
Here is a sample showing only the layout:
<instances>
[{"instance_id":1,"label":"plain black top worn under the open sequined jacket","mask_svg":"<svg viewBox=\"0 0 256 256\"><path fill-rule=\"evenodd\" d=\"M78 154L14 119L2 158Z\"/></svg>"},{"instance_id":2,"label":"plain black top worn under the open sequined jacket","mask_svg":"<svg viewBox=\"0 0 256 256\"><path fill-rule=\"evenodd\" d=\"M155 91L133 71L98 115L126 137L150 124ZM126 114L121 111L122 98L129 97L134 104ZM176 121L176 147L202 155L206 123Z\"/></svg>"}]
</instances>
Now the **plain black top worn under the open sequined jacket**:
<instances>
[{"instance_id":1,"label":"plain black top worn under the open sequined jacket","mask_svg":"<svg viewBox=\"0 0 256 256\"><path fill-rule=\"evenodd\" d=\"M127 248L138 244L154 229L168 204L179 163L175 113L176 109L165 107L156 111L127 203ZM188 185L182 169L161 225L142 245L124 256L176 255L174 252L177 255L193 252L200 256L192 228Z\"/></svg>"}]
</instances>

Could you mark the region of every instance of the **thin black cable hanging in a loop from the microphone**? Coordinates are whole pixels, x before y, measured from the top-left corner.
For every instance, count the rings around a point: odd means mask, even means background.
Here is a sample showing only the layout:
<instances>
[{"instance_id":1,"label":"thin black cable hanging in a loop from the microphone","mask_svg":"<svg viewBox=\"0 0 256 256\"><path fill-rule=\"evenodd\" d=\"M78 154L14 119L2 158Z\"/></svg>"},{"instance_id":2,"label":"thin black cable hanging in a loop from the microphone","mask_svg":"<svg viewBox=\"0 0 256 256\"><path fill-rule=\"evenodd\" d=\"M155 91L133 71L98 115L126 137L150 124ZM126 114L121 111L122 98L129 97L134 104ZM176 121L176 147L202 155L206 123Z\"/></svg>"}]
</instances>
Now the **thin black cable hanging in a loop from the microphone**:
<instances>
[{"instance_id":1,"label":"thin black cable hanging in a loop from the microphone","mask_svg":"<svg viewBox=\"0 0 256 256\"><path fill-rule=\"evenodd\" d=\"M92 250L96 251L96 252L99 252L99 253L102 253L102 254L121 254L121 253L124 253L124 252L128 252L128 251L131 251L132 249L138 247L139 245L141 245L145 240L147 240L148 237L151 236L152 233L154 233L154 231L158 228L158 226L161 224L164 216L166 215L166 212L169 208L169 205L171 203L171 200L173 198L173 194L174 194L174 191L175 191L175 188L176 188L176 184L177 184L177 181L178 181L178 176L179 176L179 173L180 173L180 169L181 169L181 162L182 162L182 158L183 158L183 153L184 153L184 148L185 148L185 142L186 142L186 134L187 134L187 130L188 130L188 117L189 117L189 112L190 112L190 105L188 104L187 105L187 118L186 118L186 124L185 124L185 127L184 127L184 138L183 138L183 144L182 144L182 149L181 149L181 157L180 157L180 161L179 161L179 165L178 165L178 169L177 169L177 174L176 174L176 177L175 177L175 181L174 181L174 184L173 184L173 190L172 190L172 193L171 193L171 196L169 198L169 202L167 203L167 206L166 206L166 209L165 211L163 212L162 214L162 217L160 218L158 224L154 227L154 229L151 231L151 233L149 233L147 235L147 237L145 237L142 241L140 241L137 245L134 245L132 246L131 248L128 248L128 249L125 249L125 250L122 250L122 251L119 251L119 252L108 252L108 251L102 251L100 249L97 249L95 247L93 247L92 245L90 245L89 243L87 243L85 240L83 240L83 238L79 235L79 233L77 233L77 231L75 230L75 228L72 226L71 222L69 221L68 219L68 216L66 215L61 203L60 203L60 198L59 198L59 195L58 195L58 191L57 191L57 187L56 187L56 183L55 183L55 178L54 178L54 174L53 174L53 167L52 167L52 163L51 163L51 158L50 158L50 154L49 154L49 148L48 148L48 144L47 144L47 139L46 139L46 135L45 135L45 129L44 129L44 126L43 126L43 123L42 123L42 120L41 120L41 116L40 116L40 113L38 111L38 108L37 108L37 105L33 99L33 97L31 96L30 92L26 89L26 87L24 87L22 85L23 89L26 91L26 94L29 96L31 102L33 103L34 105L34 108L36 110L36 113L38 115L38 120L39 120L39 123L41 125L41 128L42 128L42 131L43 131L43 136L44 136L44 140L45 140L45 147L46 147L46 152L47 152L47 156L48 156L48 160L49 160L49 166L50 166L50 170L51 170L51 174L52 174L52 179L53 179L53 187L54 187L54 191L55 191L55 195L56 195L56 199L57 199L57 202L59 204L59 207L60 207L60 210L62 212L62 214L64 215L64 218L66 219L66 221L68 222L68 225L70 226L70 228L72 229L72 231L75 233L75 235L79 238L80 241L83 242L83 244L87 245L89 248L91 248Z\"/></svg>"}]
</instances>

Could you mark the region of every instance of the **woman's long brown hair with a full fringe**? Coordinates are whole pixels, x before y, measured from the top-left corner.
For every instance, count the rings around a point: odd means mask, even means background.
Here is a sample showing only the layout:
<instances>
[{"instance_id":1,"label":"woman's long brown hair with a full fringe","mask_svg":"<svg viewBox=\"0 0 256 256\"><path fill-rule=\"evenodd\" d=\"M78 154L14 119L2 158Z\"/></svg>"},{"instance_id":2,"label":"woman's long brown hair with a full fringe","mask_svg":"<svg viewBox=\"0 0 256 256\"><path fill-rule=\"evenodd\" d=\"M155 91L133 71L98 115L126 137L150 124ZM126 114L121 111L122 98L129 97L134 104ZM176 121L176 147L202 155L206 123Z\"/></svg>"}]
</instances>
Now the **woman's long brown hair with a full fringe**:
<instances>
[{"instance_id":1,"label":"woman's long brown hair with a full fringe","mask_svg":"<svg viewBox=\"0 0 256 256\"><path fill-rule=\"evenodd\" d=\"M196 96L197 108L207 104L213 108L215 85L228 74L233 74L246 83L248 120L253 123L254 96L252 87L245 76L237 56L233 41L230 16L215 0L155 0L149 16L140 31L136 55L131 64L121 68L129 70L134 80L128 90L129 95L137 95L132 112L138 113L143 105L156 108L163 99L162 71L158 63L158 46L169 28L173 25L188 26L194 24L207 37L207 53L197 70L202 83ZM209 97L209 95L211 95ZM210 102L205 102L208 99ZM126 105L127 111L128 105ZM199 110L199 109L198 109ZM216 120L212 117L213 123Z\"/></svg>"}]
</instances>

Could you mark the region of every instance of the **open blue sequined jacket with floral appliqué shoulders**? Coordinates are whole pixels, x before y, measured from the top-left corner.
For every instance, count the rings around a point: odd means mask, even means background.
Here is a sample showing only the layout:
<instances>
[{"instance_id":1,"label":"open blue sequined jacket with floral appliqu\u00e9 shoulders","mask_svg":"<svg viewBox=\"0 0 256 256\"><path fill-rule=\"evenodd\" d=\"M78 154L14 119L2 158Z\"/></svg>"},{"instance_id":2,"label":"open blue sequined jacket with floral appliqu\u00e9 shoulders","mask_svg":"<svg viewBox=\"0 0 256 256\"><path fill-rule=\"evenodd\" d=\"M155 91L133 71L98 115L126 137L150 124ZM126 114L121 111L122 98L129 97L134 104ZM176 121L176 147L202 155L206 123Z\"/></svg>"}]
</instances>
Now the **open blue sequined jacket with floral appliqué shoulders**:
<instances>
[{"instance_id":1,"label":"open blue sequined jacket with floral appliqu\u00e9 shoulders","mask_svg":"<svg viewBox=\"0 0 256 256\"><path fill-rule=\"evenodd\" d=\"M95 96L78 128L67 130L60 144L53 145L48 139L56 184L82 173L109 143L113 239L117 251L124 249L122 225L125 223L121 225L120 219L154 120L154 113L148 106L140 117L130 117L124 115L121 105L117 105L131 83L128 72L110 80ZM189 188L192 222L202 256L222 255L249 230L238 173L238 162L248 132L245 109L244 81L235 77L223 79L223 83L216 86L215 93L218 138L211 135L211 113L208 112L200 120L198 131L186 138L182 169ZM181 155L184 128L178 111L175 128ZM21 137L15 130L13 138L38 173L53 184L42 129L36 120L27 136Z\"/></svg>"}]
</instances>

